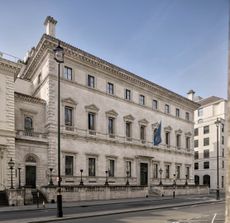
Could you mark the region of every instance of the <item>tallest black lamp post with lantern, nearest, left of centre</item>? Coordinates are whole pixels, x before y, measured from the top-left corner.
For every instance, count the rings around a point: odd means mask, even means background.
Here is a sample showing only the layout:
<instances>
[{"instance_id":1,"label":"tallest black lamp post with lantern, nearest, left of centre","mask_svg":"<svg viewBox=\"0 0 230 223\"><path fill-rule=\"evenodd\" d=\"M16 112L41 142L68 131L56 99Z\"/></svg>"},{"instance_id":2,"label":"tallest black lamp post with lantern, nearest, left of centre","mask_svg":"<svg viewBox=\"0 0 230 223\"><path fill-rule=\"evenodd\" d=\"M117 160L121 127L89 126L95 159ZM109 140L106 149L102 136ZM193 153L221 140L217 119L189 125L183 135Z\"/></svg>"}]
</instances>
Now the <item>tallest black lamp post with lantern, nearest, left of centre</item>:
<instances>
[{"instance_id":1,"label":"tallest black lamp post with lantern, nearest, left of centre","mask_svg":"<svg viewBox=\"0 0 230 223\"><path fill-rule=\"evenodd\" d=\"M54 49L54 60L58 63L58 193L57 193L57 217L63 217L61 195L61 148L60 148L60 64L64 63L64 49L58 46Z\"/></svg>"}]
</instances>

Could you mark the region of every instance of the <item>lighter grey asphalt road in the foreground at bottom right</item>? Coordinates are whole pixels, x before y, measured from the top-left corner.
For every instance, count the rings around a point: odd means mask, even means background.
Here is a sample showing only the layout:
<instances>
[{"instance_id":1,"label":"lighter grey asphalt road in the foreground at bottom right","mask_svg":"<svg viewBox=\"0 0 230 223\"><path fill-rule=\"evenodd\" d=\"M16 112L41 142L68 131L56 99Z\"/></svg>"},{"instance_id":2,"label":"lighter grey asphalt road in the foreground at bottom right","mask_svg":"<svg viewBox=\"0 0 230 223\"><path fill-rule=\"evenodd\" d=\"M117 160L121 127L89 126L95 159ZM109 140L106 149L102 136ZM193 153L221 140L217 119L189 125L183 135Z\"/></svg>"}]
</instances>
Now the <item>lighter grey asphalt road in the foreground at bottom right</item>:
<instances>
[{"instance_id":1,"label":"lighter grey asphalt road in the foreground at bottom right","mask_svg":"<svg viewBox=\"0 0 230 223\"><path fill-rule=\"evenodd\" d=\"M56 221L57 223L224 223L224 202Z\"/></svg>"}]
</instances>

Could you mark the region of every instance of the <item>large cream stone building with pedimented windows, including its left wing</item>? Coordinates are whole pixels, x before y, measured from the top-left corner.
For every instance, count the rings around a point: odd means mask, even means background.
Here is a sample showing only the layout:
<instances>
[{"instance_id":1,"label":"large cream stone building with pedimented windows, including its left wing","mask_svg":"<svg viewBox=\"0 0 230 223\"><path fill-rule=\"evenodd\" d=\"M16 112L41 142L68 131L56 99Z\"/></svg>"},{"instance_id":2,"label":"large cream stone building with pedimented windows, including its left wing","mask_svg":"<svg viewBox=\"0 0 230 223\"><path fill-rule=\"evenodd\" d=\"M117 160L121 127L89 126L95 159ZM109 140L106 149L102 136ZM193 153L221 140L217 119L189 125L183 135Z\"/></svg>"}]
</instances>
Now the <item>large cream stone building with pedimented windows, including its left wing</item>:
<instances>
[{"instance_id":1,"label":"large cream stone building with pedimented windows, including its left wing","mask_svg":"<svg viewBox=\"0 0 230 223\"><path fill-rule=\"evenodd\" d=\"M40 187L57 176L56 21L25 63L0 58L0 185ZM60 41L63 185L193 184L193 113L198 104ZM157 123L162 142L153 145ZM163 171L159 174L160 169ZM127 172L128 171L128 172Z\"/></svg>"}]
</instances>

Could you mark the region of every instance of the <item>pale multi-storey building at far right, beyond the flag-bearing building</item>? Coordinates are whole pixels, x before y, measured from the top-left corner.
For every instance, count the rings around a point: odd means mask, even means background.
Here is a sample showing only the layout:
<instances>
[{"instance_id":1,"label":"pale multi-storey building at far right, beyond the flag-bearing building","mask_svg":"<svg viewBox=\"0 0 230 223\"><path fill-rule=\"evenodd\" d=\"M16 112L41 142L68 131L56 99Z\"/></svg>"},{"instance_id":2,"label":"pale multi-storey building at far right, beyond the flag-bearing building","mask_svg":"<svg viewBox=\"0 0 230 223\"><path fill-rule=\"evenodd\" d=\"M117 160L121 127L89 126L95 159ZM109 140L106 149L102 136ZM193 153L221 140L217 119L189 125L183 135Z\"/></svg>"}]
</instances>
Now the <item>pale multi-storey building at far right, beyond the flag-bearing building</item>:
<instances>
[{"instance_id":1,"label":"pale multi-storey building at far right, beyond the flag-bearing building","mask_svg":"<svg viewBox=\"0 0 230 223\"><path fill-rule=\"evenodd\" d=\"M191 92L193 95L194 92ZM210 189L217 189L217 137L219 158L219 188L225 188L225 170L227 154L227 101L223 98L211 96L199 98L201 105L194 113L194 179L199 185L209 185ZM217 130L216 121L220 120ZM218 136L217 136L218 131Z\"/></svg>"}]
</instances>

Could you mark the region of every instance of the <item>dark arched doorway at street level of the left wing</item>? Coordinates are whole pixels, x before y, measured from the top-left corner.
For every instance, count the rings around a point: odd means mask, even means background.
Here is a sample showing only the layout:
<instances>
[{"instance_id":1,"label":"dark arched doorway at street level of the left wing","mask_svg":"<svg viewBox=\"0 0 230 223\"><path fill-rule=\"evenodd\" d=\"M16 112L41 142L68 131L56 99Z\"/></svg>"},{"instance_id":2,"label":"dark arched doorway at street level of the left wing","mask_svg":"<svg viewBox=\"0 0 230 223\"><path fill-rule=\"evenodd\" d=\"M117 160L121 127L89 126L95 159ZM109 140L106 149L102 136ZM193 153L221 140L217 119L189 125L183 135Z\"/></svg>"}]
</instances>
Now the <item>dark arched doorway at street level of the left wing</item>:
<instances>
[{"instance_id":1,"label":"dark arched doorway at street level of the left wing","mask_svg":"<svg viewBox=\"0 0 230 223\"><path fill-rule=\"evenodd\" d=\"M26 187L36 188L36 159L29 155L26 158Z\"/></svg>"}]
</instances>

